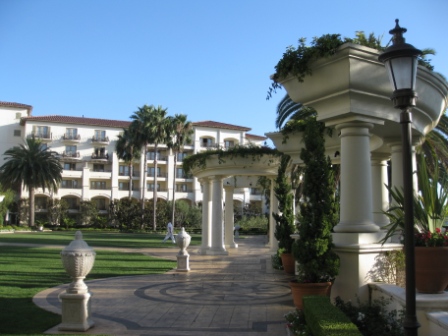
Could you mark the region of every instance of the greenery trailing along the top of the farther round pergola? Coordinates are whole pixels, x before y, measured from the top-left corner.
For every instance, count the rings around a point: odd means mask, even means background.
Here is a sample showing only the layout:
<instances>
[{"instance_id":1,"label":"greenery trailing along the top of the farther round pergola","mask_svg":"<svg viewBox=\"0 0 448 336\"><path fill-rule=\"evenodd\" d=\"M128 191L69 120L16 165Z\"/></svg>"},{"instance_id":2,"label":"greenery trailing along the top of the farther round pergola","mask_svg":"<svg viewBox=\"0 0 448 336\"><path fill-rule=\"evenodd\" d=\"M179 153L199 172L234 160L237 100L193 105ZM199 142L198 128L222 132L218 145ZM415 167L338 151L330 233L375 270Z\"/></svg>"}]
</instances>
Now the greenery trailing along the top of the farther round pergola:
<instances>
[{"instance_id":1,"label":"greenery trailing along the top of the farther round pergola","mask_svg":"<svg viewBox=\"0 0 448 336\"><path fill-rule=\"evenodd\" d=\"M269 147L259 147L254 145L249 146L234 146L228 149L218 148L214 150L207 150L194 155L190 155L183 160L184 171L188 174L194 168L206 168L207 159L216 156L218 158L219 164L225 163L226 160L231 160L233 158L252 158L252 161L260 161L264 155L271 155L280 157L280 153L276 149ZM272 159L273 160L273 159ZM271 160L271 162L272 162Z\"/></svg>"}]
</instances>

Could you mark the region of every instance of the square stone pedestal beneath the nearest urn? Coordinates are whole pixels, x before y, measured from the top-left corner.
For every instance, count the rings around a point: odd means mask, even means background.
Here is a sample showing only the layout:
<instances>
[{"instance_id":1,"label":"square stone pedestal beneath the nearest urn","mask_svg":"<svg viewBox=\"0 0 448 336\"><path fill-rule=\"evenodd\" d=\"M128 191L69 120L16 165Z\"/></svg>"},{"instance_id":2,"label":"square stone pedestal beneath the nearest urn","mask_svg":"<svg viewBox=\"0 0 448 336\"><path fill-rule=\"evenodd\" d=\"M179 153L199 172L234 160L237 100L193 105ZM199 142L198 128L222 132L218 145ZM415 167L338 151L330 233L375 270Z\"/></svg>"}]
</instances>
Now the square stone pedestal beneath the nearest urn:
<instances>
[{"instance_id":1,"label":"square stone pedestal beneath the nearest urn","mask_svg":"<svg viewBox=\"0 0 448 336\"><path fill-rule=\"evenodd\" d=\"M61 293L62 323L59 330L86 331L94 326L91 314L91 294Z\"/></svg>"}]
</instances>

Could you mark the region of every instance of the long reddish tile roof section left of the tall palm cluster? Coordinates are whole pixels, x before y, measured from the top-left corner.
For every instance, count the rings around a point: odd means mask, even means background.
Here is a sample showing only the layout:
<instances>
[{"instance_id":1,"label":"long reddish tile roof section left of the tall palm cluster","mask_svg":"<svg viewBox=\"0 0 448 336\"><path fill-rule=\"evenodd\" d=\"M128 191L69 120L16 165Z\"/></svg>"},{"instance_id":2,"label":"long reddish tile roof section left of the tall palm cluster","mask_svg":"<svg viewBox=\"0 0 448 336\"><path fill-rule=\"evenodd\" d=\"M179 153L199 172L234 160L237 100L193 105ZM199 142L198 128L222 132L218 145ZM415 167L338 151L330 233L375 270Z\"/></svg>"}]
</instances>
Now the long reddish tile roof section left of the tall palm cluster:
<instances>
[{"instance_id":1,"label":"long reddish tile roof section left of the tall palm cluster","mask_svg":"<svg viewBox=\"0 0 448 336\"><path fill-rule=\"evenodd\" d=\"M131 123L130 121L69 117L60 115L24 117L22 118L20 123L24 125L27 121L49 122L55 124L76 124L76 125L88 125L88 126L114 127L114 128L127 128Z\"/></svg>"}]
</instances>

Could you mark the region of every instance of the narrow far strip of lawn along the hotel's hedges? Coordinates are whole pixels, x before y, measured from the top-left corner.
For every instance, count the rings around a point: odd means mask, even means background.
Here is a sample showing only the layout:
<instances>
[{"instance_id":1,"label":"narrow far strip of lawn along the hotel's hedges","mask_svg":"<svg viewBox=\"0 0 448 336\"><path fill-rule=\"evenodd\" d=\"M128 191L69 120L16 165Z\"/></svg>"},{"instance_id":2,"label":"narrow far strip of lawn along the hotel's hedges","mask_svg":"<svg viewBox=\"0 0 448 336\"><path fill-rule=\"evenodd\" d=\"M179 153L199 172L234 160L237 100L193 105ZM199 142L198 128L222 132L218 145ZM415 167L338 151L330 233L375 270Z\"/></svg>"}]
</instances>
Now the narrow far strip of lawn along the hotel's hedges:
<instances>
[{"instance_id":1,"label":"narrow far strip of lawn along the hotel's hedges","mask_svg":"<svg viewBox=\"0 0 448 336\"><path fill-rule=\"evenodd\" d=\"M94 249L98 247L151 248L173 247L171 241L162 243L165 234L157 233L109 233L82 231L83 239ZM199 245L201 236L190 234L190 245ZM44 245L68 245L75 238L75 231L30 232L0 234L3 243L28 243ZM176 247L177 248L177 247Z\"/></svg>"}]
</instances>

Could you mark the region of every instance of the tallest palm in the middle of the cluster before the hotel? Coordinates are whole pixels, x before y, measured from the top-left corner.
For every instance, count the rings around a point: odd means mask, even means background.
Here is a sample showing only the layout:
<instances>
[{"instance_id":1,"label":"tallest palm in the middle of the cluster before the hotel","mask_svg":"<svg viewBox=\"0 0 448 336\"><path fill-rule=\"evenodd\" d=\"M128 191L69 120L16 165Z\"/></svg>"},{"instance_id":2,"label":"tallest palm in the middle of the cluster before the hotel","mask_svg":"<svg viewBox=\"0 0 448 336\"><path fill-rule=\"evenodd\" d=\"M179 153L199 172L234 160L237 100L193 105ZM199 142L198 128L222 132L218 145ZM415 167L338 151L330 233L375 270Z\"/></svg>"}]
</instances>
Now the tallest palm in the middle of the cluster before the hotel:
<instances>
[{"instance_id":1,"label":"tallest palm in the middle of the cluster before the hotel","mask_svg":"<svg viewBox=\"0 0 448 336\"><path fill-rule=\"evenodd\" d=\"M135 144L143 146L145 154L145 175L144 189L142 193L142 228L144 227L144 209L145 209L145 190L146 190L146 160L147 148L149 144L154 144L154 188L153 188L153 230L156 230L156 211L157 211L157 150L160 143L164 143L168 137L168 127L166 111L162 106L144 105L139 107L138 111L131 116L133 120L130 125L130 131L134 135Z\"/></svg>"}]
</instances>

